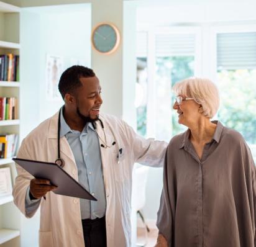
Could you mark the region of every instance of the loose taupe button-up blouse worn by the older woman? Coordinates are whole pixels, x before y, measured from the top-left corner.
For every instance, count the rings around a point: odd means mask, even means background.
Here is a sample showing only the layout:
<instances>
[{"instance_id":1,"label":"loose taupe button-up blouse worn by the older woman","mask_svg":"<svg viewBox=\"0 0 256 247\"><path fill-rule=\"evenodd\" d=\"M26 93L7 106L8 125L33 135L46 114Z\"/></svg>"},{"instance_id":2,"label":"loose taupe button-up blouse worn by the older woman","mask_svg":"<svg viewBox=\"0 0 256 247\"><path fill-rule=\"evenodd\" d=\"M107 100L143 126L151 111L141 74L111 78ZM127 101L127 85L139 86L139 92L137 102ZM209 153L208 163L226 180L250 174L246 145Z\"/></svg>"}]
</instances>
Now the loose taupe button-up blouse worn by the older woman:
<instances>
[{"instance_id":1,"label":"loose taupe button-up blouse worn by the older woman","mask_svg":"<svg viewBox=\"0 0 256 247\"><path fill-rule=\"evenodd\" d=\"M190 130L173 137L157 227L171 247L253 247L255 166L244 138L217 124L199 160Z\"/></svg>"}]
</instances>

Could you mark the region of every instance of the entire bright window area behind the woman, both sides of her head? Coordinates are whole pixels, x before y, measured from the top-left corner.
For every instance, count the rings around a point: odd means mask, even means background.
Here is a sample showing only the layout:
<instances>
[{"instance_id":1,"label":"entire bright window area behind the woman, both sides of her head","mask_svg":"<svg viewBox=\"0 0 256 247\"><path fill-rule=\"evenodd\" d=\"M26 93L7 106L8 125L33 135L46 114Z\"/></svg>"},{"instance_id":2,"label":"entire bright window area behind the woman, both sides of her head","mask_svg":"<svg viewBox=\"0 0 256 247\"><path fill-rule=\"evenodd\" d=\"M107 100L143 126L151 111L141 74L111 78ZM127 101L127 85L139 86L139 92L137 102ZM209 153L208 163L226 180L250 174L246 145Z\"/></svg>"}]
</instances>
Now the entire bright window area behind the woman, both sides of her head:
<instances>
[{"instance_id":1,"label":"entire bright window area behind the woman, both sides of her head","mask_svg":"<svg viewBox=\"0 0 256 247\"><path fill-rule=\"evenodd\" d=\"M217 118L240 132L256 157L256 25L149 28L138 40L137 70L144 84L138 91L145 96L137 108L139 133L169 141L183 132L171 87L202 76L219 88Z\"/></svg>"}]
</instances>

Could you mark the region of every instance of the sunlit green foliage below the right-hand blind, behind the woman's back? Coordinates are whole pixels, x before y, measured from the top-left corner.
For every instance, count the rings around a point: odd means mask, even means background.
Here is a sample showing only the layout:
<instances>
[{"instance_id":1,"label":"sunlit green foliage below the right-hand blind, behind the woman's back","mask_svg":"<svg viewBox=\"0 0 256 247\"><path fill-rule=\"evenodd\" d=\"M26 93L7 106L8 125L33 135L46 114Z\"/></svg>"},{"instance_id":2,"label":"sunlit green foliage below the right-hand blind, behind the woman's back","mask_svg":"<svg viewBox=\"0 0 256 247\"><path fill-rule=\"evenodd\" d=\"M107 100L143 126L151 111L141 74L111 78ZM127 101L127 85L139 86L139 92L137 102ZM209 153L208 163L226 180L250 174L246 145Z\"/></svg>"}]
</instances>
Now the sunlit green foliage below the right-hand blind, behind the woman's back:
<instances>
[{"instance_id":1,"label":"sunlit green foliage below the right-hand blind, behind the woman's back","mask_svg":"<svg viewBox=\"0 0 256 247\"><path fill-rule=\"evenodd\" d=\"M218 119L256 144L256 70L219 70Z\"/></svg>"}]
</instances>

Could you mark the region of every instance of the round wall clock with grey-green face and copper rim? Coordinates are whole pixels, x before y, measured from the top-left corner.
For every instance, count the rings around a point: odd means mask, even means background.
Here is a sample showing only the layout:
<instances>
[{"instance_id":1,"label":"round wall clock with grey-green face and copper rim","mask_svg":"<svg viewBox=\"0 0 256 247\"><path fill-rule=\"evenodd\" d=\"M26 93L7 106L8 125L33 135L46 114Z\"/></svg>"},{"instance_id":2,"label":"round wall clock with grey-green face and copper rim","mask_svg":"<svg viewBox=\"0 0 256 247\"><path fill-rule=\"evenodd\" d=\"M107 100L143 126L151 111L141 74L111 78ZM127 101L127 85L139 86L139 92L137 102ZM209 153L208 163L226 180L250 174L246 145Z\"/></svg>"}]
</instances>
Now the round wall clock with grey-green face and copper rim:
<instances>
[{"instance_id":1,"label":"round wall clock with grey-green face and copper rim","mask_svg":"<svg viewBox=\"0 0 256 247\"><path fill-rule=\"evenodd\" d=\"M116 27L110 24L101 24L94 29L92 42L94 48L101 53L112 53L119 43L119 33Z\"/></svg>"}]
</instances>

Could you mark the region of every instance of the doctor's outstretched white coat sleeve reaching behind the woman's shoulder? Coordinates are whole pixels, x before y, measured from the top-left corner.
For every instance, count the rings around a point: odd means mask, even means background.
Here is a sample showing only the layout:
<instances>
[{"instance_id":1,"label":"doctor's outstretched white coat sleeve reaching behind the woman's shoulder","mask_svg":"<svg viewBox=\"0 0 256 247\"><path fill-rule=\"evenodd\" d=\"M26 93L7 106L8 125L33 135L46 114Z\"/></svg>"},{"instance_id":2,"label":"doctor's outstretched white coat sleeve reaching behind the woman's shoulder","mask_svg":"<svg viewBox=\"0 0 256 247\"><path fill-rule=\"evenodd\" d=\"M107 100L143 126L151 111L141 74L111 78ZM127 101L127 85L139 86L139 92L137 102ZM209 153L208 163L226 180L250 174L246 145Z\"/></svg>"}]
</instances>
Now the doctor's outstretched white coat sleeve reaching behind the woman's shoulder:
<instances>
[{"instance_id":1,"label":"doctor's outstretched white coat sleeve reaching behind the woman's shoulder","mask_svg":"<svg viewBox=\"0 0 256 247\"><path fill-rule=\"evenodd\" d=\"M162 167L168 143L153 138L145 139L124 122L134 162L146 166Z\"/></svg>"}]
</instances>

